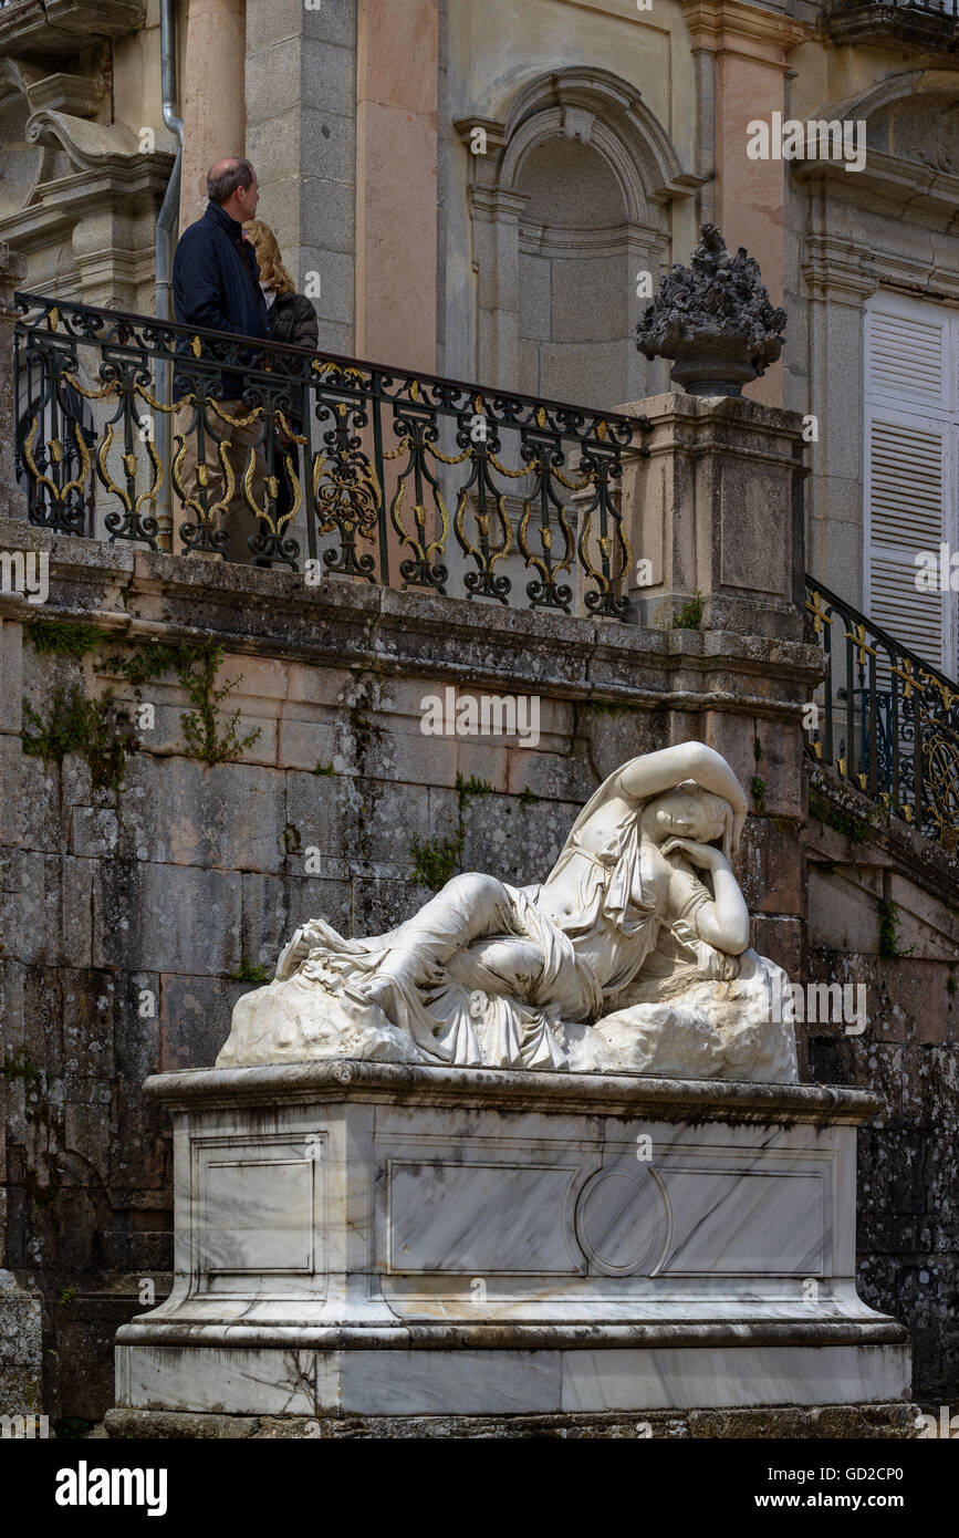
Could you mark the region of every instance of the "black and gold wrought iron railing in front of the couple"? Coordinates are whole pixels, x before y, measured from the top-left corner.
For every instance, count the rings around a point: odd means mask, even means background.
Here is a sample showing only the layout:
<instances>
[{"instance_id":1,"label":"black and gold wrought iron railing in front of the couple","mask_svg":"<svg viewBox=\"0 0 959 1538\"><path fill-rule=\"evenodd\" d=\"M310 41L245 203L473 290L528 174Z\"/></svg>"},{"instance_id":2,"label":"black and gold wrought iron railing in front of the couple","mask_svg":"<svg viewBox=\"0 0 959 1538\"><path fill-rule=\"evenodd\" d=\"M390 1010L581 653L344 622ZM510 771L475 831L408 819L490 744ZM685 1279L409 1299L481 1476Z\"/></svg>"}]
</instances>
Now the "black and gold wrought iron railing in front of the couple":
<instances>
[{"instance_id":1,"label":"black and gold wrought iron railing in front of the couple","mask_svg":"<svg viewBox=\"0 0 959 1538\"><path fill-rule=\"evenodd\" d=\"M629 618L618 488L644 418L17 303L31 523L503 604L526 581L532 608Z\"/></svg>"}]
</instances>

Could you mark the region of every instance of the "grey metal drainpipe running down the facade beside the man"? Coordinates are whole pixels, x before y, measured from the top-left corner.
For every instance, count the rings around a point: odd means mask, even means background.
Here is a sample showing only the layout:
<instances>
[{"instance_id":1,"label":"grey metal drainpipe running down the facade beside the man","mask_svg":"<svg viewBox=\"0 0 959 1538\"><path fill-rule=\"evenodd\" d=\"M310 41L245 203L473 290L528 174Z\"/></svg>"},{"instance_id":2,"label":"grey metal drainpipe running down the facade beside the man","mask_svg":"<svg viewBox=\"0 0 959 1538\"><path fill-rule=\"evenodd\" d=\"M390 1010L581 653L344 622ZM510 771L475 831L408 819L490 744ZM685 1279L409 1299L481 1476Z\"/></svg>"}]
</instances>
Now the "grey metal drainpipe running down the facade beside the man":
<instances>
[{"instance_id":1,"label":"grey metal drainpipe running down the facade beside the man","mask_svg":"<svg viewBox=\"0 0 959 1538\"><path fill-rule=\"evenodd\" d=\"M177 117L177 0L160 0L160 80L163 122L177 135L177 158L166 185L157 220L157 318L172 320L174 303L174 231L180 218L180 177L183 169L183 118ZM157 361L157 400L169 406L174 394L174 368L169 360ZM174 501L171 486L172 420L161 411L157 421L157 455L163 466L163 484L157 492L157 543L161 551L174 549Z\"/></svg>"}]
</instances>

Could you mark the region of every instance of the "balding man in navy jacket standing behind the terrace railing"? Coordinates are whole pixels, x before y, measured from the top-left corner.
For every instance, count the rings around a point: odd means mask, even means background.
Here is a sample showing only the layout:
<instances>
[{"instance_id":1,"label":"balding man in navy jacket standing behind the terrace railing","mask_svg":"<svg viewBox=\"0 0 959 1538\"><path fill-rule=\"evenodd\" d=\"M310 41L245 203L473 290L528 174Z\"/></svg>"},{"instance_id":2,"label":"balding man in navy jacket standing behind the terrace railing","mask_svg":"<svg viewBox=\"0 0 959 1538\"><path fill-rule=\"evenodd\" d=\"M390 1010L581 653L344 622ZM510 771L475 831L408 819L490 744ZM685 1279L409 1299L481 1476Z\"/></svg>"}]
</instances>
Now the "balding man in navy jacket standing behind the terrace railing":
<instances>
[{"instance_id":1,"label":"balding man in navy jacket standing behind the terrace railing","mask_svg":"<svg viewBox=\"0 0 959 1538\"><path fill-rule=\"evenodd\" d=\"M260 268L251 241L243 234L243 223L255 217L260 189L257 172L249 160L229 155L211 166L206 177L209 203L203 218L183 231L174 257L174 306L177 320L184 326L204 326L214 331L229 331L241 337L269 337L269 317ZM178 345L184 352L184 372L178 375L177 391L191 392L206 380L206 388L217 381L204 374L186 372L191 354L187 343ZM251 361L254 352L244 355ZM241 358L243 361L243 358ZM251 494L261 504L266 477L263 457L263 414L252 421L252 408L243 401L243 375L235 369L223 369L218 375L223 388L221 400L207 403L203 415L203 455L200 458L198 420L195 408L184 406L177 414L177 432L186 437L187 449L180 469L180 480L187 497L203 504L201 489L206 489L206 508L224 501L220 509L220 528L227 534L226 560L251 561L249 537L258 532L258 521L244 494L249 454L254 451L254 478ZM226 420L224 420L226 418ZM192 431L191 431L192 423ZM234 486L231 495L227 480L220 464L218 444L226 444ZM198 463L200 460L200 463ZM184 521L197 523L195 509L184 506Z\"/></svg>"}]
</instances>

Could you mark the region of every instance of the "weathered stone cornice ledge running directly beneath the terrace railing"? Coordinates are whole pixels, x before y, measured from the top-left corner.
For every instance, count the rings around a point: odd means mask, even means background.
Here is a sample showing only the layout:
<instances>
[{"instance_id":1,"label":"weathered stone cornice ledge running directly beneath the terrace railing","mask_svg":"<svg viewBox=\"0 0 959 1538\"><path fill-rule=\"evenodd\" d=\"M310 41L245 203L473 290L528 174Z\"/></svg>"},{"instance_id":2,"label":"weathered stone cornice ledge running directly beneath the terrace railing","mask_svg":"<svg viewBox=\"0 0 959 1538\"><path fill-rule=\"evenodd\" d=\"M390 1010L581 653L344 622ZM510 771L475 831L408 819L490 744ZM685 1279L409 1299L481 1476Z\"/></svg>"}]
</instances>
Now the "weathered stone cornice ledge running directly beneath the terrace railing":
<instances>
[{"instance_id":1,"label":"weathered stone cornice ledge running directly beneath the terrace railing","mask_svg":"<svg viewBox=\"0 0 959 1538\"><path fill-rule=\"evenodd\" d=\"M0 548L49 552L45 618L95 621L115 640L203 640L231 652L287 657L467 687L798 720L822 675L818 646L732 631L670 631L535 609L489 609L294 572L52 535L0 520ZM35 606L0 594L0 615ZM775 689L770 692L770 678Z\"/></svg>"}]
</instances>

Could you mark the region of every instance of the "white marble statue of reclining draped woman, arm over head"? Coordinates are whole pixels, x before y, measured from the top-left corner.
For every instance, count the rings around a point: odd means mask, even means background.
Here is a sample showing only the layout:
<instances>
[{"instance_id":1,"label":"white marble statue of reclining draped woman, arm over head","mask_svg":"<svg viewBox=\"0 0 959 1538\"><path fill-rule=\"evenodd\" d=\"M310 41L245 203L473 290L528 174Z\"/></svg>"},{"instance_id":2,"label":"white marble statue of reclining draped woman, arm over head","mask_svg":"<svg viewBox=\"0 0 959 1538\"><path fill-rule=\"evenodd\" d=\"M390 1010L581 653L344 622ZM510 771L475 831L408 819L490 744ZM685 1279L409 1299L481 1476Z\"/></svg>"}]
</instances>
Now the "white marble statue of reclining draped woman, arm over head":
<instances>
[{"instance_id":1,"label":"white marble statue of reclining draped woman, arm over head","mask_svg":"<svg viewBox=\"0 0 959 1538\"><path fill-rule=\"evenodd\" d=\"M274 983L238 1001L217 1063L795 1078L784 975L747 950L730 867L745 812L732 769L702 743L633 758L582 809L541 884L456 875L369 940L306 923Z\"/></svg>"}]
</instances>

